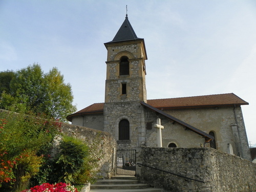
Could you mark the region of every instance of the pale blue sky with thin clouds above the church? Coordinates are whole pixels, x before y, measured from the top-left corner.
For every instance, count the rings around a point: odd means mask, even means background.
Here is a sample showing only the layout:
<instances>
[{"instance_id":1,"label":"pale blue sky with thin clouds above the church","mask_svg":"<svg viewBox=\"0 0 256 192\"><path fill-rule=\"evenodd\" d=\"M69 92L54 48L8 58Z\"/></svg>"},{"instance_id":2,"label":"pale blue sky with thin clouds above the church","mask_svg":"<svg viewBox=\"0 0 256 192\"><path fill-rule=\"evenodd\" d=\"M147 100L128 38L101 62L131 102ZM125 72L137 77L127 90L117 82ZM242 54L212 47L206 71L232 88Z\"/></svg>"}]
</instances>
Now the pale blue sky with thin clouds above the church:
<instances>
[{"instance_id":1,"label":"pale blue sky with thin clouds above the church","mask_svg":"<svg viewBox=\"0 0 256 192\"><path fill-rule=\"evenodd\" d=\"M106 48L127 14L144 38L147 99L234 93L256 147L255 0L0 0L0 71L39 63L77 110L104 102Z\"/></svg>"}]
</instances>

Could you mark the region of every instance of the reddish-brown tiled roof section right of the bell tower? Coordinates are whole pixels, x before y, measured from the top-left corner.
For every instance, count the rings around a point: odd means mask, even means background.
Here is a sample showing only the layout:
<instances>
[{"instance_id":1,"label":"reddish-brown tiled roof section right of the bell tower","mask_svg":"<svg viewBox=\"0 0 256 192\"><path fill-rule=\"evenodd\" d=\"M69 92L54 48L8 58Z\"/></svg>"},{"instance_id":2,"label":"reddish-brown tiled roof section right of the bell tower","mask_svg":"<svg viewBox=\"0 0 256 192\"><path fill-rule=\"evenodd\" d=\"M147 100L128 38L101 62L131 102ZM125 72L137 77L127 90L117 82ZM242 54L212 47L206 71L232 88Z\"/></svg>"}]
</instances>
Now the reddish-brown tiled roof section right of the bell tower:
<instances>
[{"instance_id":1,"label":"reddish-brown tiled roof section right of the bell tower","mask_svg":"<svg viewBox=\"0 0 256 192\"><path fill-rule=\"evenodd\" d=\"M170 99L152 99L147 103L158 109L194 108L203 106L225 106L249 104L233 93L204 95L195 97L180 97Z\"/></svg>"}]
</instances>

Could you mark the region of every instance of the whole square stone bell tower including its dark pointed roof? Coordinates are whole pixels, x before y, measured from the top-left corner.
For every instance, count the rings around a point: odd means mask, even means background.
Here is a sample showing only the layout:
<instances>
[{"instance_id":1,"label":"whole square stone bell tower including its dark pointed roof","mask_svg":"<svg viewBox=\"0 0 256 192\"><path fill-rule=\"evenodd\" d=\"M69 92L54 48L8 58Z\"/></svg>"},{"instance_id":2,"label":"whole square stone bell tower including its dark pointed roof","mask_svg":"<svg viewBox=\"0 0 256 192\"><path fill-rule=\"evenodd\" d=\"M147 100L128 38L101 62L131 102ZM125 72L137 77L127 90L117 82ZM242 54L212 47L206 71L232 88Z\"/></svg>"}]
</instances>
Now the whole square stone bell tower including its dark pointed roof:
<instances>
[{"instance_id":1,"label":"whole square stone bell tower including its dark pointed roof","mask_svg":"<svg viewBox=\"0 0 256 192\"><path fill-rule=\"evenodd\" d=\"M113 40L104 45L108 50L104 131L116 138L118 146L141 145L144 136L140 101L146 102L144 39L137 37L126 14Z\"/></svg>"}]
</instances>

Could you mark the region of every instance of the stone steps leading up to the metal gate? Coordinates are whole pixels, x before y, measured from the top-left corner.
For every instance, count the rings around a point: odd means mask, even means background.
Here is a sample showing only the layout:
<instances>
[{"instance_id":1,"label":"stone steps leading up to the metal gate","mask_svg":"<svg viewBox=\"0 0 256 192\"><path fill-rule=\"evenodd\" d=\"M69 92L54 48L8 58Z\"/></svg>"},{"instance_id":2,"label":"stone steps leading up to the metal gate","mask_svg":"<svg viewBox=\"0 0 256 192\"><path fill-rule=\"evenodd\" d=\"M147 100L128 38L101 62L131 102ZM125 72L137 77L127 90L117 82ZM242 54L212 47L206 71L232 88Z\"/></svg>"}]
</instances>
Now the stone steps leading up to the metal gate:
<instances>
[{"instance_id":1,"label":"stone steps leading up to the metal gate","mask_svg":"<svg viewBox=\"0 0 256 192\"><path fill-rule=\"evenodd\" d=\"M162 192L162 189L152 188L150 185L142 184L136 177L117 176L111 179L99 179L91 185L90 192Z\"/></svg>"}]
</instances>

